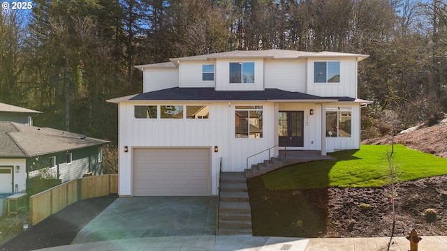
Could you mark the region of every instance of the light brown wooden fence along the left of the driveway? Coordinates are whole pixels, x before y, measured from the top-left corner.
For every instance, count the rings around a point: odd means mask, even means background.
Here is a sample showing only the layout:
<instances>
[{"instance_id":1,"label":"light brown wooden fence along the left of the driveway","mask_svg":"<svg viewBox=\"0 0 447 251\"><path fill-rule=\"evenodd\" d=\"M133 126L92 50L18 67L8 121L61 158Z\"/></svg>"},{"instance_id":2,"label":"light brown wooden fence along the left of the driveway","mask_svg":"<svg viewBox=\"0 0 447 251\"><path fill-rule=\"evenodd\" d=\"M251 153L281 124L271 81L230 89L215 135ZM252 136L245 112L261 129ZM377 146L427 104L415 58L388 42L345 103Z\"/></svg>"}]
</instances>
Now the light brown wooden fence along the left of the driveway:
<instances>
[{"instance_id":1,"label":"light brown wooden fence along the left of the driveway","mask_svg":"<svg viewBox=\"0 0 447 251\"><path fill-rule=\"evenodd\" d=\"M57 185L29 197L29 218L32 225L82 199L118 193L118 174L79 178Z\"/></svg>"}]
</instances>

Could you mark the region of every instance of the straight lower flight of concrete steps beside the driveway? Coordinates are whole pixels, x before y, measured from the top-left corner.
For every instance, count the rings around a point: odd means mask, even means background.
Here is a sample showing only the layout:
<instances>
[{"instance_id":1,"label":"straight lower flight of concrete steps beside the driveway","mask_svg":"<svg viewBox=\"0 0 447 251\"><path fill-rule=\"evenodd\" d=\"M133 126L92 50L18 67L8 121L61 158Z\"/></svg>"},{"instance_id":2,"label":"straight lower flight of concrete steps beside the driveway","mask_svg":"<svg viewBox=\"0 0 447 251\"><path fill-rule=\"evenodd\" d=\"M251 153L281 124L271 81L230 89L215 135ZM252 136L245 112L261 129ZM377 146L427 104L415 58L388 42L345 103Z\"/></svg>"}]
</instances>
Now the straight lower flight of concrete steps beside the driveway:
<instances>
[{"instance_id":1,"label":"straight lower flight of concrete steps beside the driveway","mask_svg":"<svg viewBox=\"0 0 447 251\"><path fill-rule=\"evenodd\" d=\"M221 173L219 222L216 234L252 234L251 208L243 172Z\"/></svg>"}]
</instances>

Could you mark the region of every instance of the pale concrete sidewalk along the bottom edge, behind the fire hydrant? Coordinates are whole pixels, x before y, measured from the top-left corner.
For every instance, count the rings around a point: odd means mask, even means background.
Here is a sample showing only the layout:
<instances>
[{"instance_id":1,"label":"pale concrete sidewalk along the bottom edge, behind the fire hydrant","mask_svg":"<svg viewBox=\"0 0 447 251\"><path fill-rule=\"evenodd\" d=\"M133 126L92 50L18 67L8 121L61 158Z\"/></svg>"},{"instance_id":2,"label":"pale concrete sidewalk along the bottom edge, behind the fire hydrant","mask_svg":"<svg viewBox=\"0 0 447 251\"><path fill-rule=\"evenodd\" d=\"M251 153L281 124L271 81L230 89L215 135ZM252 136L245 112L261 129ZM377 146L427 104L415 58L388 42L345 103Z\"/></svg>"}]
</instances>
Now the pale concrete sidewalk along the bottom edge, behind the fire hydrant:
<instances>
[{"instance_id":1,"label":"pale concrete sidewalk along the bottom edge, behind the fire hydrant","mask_svg":"<svg viewBox=\"0 0 447 251\"><path fill-rule=\"evenodd\" d=\"M41 251L386 251L390 238L284 238L254 236L168 236L100 241ZM407 251L409 241L393 238L390 251ZM447 251L447 236L423 236L418 251Z\"/></svg>"}]
</instances>

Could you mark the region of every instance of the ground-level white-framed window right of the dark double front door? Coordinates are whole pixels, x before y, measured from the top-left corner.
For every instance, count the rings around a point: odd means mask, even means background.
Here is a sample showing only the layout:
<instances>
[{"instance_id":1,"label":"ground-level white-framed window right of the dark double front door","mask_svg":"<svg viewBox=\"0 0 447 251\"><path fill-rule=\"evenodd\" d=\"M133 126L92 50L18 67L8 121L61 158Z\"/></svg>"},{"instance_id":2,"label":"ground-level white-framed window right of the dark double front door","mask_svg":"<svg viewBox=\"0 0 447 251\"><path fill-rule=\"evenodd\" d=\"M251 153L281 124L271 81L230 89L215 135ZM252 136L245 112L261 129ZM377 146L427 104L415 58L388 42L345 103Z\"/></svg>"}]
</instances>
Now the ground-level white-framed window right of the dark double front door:
<instances>
[{"instance_id":1,"label":"ground-level white-framed window right of the dark double front door","mask_svg":"<svg viewBox=\"0 0 447 251\"><path fill-rule=\"evenodd\" d=\"M326 137L351 137L352 107L326 107Z\"/></svg>"}]
</instances>

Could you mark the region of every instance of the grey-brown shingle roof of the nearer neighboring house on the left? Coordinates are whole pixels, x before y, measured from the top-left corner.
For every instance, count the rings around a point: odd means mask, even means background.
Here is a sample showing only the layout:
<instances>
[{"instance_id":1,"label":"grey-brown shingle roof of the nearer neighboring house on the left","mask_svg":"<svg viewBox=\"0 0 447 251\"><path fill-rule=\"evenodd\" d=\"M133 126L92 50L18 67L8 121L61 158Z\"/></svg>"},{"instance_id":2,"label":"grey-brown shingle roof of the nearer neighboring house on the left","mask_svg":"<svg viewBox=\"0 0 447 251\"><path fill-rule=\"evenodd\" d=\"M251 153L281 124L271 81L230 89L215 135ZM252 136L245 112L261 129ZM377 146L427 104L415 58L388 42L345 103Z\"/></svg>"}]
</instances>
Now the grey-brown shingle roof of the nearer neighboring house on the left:
<instances>
[{"instance_id":1,"label":"grey-brown shingle roof of the nearer neighboring house on the left","mask_svg":"<svg viewBox=\"0 0 447 251\"><path fill-rule=\"evenodd\" d=\"M0 122L0 157L32 157L108 143L73 132Z\"/></svg>"}]
</instances>

